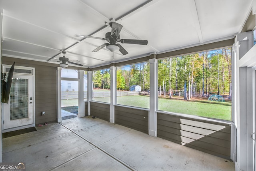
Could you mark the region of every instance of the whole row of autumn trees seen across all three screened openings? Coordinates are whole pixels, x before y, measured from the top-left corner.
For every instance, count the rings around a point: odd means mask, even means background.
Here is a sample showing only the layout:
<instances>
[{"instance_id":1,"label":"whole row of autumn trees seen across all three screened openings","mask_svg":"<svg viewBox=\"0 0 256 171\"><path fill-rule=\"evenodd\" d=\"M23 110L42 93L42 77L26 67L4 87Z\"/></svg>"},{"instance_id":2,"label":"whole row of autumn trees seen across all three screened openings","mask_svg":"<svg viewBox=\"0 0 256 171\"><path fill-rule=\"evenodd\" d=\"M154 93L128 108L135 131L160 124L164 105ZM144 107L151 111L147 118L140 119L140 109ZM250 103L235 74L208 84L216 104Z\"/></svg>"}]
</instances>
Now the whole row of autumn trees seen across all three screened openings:
<instances>
[{"instance_id":1,"label":"whole row of autumn trees seen across all three screened openings","mask_svg":"<svg viewBox=\"0 0 256 171\"><path fill-rule=\"evenodd\" d=\"M130 86L140 85L148 91L149 80L148 62L117 67L118 90L128 91ZM109 89L110 70L93 72L93 82L94 87ZM231 48L158 60L158 89L170 95L184 91L188 99L193 93L231 96Z\"/></svg>"}]
</instances>

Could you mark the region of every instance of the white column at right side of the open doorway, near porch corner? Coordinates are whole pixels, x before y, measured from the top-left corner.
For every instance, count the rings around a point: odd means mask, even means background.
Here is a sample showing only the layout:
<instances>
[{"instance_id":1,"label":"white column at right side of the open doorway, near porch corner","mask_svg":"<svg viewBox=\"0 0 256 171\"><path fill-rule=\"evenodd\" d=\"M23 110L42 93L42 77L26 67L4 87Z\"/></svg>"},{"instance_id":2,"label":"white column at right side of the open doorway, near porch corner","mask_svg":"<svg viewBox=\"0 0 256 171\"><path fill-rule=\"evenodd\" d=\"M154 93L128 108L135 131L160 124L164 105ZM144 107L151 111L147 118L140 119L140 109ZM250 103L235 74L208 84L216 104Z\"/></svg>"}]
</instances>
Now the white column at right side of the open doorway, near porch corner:
<instances>
[{"instance_id":1,"label":"white column at right side of the open doorway, near porch corner","mask_svg":"<svg viewBox=\"0 0 256 171\"><path fill-rule=\"evenodd\" d=\"M84 117L84 70L78 70L78 117Z\"/></svg>"}]
</instances>

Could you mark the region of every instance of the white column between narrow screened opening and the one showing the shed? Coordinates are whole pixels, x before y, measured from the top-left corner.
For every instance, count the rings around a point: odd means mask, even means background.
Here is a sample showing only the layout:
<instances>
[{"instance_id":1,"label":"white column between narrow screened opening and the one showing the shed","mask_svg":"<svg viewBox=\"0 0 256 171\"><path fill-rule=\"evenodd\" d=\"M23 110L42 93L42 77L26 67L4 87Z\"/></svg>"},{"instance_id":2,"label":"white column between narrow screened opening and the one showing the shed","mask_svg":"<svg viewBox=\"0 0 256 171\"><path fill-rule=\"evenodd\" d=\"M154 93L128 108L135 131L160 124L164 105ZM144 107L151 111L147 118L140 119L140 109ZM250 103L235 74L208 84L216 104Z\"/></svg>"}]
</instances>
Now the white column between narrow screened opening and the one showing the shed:
<instances>
[{"instance_id":1,"label":"white column between narrow screened opening and the one showing the shed","mask_svg":"<svg viewBox=\"0 0 256 171\"><path fill-rule=\"evenodd\" d=\"M115 105L116 104L116 67L110 67L110 123L115 123Z\"/></svg>"}]
</instances>

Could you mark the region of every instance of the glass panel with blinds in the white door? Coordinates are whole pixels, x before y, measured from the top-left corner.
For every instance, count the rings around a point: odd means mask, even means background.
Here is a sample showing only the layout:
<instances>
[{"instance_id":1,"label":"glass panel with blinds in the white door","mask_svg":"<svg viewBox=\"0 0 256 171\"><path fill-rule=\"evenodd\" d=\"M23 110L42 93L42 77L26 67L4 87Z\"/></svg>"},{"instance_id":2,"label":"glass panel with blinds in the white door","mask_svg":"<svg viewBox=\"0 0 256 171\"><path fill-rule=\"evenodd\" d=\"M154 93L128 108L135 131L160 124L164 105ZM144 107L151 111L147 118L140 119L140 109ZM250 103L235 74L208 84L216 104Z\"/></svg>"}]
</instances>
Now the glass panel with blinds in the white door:
<instances>
[{"instance_id":1,"label":"glass panel with blinds in the white door","mask_svg":"<svg viewBox=\"0 0 256 171\"><path fill-rule=\"evenodd\" d=\"M13 79L10 90L10 120L28 117L28 79Z\"/></svg>"}]
</instances>

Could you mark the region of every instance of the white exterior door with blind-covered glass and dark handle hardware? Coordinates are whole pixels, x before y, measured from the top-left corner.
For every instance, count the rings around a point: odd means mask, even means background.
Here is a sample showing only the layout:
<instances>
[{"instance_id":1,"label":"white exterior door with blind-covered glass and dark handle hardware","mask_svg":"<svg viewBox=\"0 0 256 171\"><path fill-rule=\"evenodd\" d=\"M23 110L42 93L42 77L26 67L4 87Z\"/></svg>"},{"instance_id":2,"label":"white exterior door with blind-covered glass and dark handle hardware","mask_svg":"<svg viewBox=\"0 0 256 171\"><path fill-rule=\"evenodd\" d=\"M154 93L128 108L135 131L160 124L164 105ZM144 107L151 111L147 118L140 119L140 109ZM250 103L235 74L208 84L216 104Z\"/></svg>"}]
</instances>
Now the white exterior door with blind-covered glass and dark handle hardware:
<instances>
[{"instance_id":1,"label":"white exterior door with blind-covered glass and dark handle hardware","mask_svg":"<svg viewBox=\"0 0 256 171\"><path fill-rule=\"evenodd\" d=\"M4 103L4 129L26 127L34 122L33 76L14 74L12 78L9 103Z\"/></svg>"}]
</instances>

